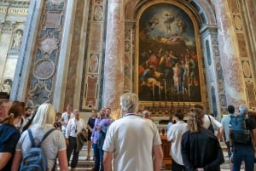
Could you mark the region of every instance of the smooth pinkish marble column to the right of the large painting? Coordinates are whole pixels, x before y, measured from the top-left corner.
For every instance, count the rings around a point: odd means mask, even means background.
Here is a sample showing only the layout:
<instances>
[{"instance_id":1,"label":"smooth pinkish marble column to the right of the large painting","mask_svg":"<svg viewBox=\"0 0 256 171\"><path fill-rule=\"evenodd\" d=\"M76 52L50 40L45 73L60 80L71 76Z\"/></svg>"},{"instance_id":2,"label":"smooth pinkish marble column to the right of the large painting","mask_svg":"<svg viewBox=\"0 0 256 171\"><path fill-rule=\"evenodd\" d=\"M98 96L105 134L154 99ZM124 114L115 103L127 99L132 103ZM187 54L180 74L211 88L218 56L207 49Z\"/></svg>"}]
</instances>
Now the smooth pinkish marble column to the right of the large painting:
<instances>
[{"instance_id":1,"label":"smooth pinkish marble column to the right of the large painting","mask_svg":"<svg viewBox=\"0 0 256 171\"><path fill-rule=\"evenodd\" d=\"M246 85L242 74L241 59L238 51L236 32L232 23L229 1L212 0L216 10L218 23L218 42L221 64L224 73L224 87L227 105L247 103ZM234 1L233 1L234 3Z\"/></svg>"}]
</instances>

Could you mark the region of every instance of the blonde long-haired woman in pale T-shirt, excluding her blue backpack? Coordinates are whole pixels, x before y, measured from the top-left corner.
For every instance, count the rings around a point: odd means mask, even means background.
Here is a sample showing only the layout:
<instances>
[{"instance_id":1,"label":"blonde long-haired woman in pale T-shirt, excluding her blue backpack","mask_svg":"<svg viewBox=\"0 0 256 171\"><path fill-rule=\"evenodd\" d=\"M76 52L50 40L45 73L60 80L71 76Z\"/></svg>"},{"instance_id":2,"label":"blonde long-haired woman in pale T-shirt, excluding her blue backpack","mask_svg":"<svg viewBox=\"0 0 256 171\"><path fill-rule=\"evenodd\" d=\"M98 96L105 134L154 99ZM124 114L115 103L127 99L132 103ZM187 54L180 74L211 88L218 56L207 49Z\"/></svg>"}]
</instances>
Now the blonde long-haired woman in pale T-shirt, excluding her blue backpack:
<instances>
[{"instance_id":1,"label":"blonde long-haired woman in pale T-shirt, excluding her blue backpack","mask_svg":"<svg viewBox=\"0 0 256 171\"><path fill-rule=\"evenodd\" d=\"M32 126L29 128L32 131L34 140L42 140L44 134L50 129L54 128L55 123L55 108L53 105L44 103L38 107L38 111L33 118ZM20 140L16 146L15 158L12 164L12 170L17 171L20 166L20 160L26 151L29 151L32 143L28 136L28 130L23 132L20 136ZM55 164L55 157L59 158L59 165L61 171L68 170L67 165L67 146L66 141L61 131L55 130L47 136L41 144L47 160L48 170L52 170Z\"/></svg>"}]
</instances>

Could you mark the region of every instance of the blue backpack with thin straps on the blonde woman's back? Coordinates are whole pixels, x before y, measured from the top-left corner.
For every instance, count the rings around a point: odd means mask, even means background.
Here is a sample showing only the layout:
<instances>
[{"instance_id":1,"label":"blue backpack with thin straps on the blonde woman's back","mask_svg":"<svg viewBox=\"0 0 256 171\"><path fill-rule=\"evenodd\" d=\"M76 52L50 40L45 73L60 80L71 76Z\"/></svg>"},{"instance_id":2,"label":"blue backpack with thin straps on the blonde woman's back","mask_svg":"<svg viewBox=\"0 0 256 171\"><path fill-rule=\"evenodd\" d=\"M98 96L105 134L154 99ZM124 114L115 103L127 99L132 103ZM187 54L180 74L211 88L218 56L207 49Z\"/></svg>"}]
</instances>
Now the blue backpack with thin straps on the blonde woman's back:
<instances>
[{"instance_id":1,"label":"blue backpack with thin straps on the blonde woman's back","mask_svg":"<svg viewBox=\"0 0 256 171\"><path fill-rule=\"evenodd\" d=\"M48 160L41 148L41 143L45 140L45 138L52 133L55 128L50 129L46 134L44 134L41 142L36 145L31 129L28 129L29 139L32 143L32 147L29 151L26 152L24 157L22 158L20 164L20 171L47 171L48 170Z\"/></svg>"}]
</instances>

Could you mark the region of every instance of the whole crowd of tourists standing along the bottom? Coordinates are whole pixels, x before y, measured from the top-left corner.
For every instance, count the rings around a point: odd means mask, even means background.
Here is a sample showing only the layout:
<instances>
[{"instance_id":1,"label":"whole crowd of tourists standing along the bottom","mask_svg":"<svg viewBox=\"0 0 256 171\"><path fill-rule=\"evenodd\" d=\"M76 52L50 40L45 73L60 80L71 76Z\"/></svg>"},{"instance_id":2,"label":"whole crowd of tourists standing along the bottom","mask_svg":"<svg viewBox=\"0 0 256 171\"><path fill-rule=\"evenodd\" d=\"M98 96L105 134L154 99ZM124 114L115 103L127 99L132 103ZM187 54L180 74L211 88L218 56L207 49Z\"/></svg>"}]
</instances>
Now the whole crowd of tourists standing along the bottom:
<instances>
[{"instance_id":1,"label":"whole crowd of tourists standing along the bottom","mask_svg":"<svg viewBox=\"0 0 256 171\"><path fill-rule=\"evenodd\" d=\"M49 103L29 107L24 102L1 100L0 171L32 167L74 171L84 143L88 146L86 160L94 161L94 171L160 171L164 154L150 111L138 112L137 94L123 94L120 105L122 118L113 120L111 108L102 108L99 112L93 109L84 122L72 105L61 113ZM172 170L220 171L224 162L220 140L224 140L230 170L239 171L243 165L246 171L253 171L256 113L246 105L237 108L236 113L236 107L229 105L221 122L207 115L203 105L191 108L186 121L177 110L167 129Z\"/></svg>"}]
</instances>

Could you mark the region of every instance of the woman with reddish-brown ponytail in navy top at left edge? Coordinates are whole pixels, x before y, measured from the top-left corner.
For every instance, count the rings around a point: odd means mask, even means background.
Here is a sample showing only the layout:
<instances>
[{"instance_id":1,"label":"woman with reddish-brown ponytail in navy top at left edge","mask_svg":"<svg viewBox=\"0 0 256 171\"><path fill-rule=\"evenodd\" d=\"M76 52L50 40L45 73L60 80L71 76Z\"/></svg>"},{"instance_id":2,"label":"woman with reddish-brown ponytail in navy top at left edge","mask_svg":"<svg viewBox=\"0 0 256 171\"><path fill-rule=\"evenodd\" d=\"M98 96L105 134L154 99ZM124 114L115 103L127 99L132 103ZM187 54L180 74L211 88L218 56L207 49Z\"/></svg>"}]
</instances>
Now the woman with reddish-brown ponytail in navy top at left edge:
<instances>
[{"instance_id":1,"label":"woman with reddish-brown ponytail in navy top at left edge","mask_svg":"<svg viewBox=\"0 0 256 171\"><path fill-rule=\"evenodd\" d=\"M15 146L20 139L20 131L15 128L19 123L24 107L20 102L15 102L8 111L8 116L0 121L0 170L11 169Z\"/></svg>"}]
</instances>

